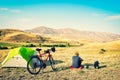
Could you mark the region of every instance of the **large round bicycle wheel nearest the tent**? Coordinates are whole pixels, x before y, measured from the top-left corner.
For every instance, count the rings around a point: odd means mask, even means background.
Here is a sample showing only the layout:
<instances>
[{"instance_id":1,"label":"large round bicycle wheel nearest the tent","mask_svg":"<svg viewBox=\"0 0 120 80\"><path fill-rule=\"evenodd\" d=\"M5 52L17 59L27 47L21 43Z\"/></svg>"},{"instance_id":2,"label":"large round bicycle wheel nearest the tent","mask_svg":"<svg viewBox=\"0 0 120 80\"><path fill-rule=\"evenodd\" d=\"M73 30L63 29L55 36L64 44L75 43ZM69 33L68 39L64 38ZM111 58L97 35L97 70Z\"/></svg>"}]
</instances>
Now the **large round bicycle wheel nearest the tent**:
<instances>
[{"instance_id":1,"label":"large round bicycle wheel nearest the tent","mask_svg":"<svg viewBox=\"0 0 120 80\"><path fill-rule=\"evenodd\" d=\"M38 74L42 68L42 62L38 56L32 56L27 63L27 70L31 74Z\"/></svg>"}]
</instances>

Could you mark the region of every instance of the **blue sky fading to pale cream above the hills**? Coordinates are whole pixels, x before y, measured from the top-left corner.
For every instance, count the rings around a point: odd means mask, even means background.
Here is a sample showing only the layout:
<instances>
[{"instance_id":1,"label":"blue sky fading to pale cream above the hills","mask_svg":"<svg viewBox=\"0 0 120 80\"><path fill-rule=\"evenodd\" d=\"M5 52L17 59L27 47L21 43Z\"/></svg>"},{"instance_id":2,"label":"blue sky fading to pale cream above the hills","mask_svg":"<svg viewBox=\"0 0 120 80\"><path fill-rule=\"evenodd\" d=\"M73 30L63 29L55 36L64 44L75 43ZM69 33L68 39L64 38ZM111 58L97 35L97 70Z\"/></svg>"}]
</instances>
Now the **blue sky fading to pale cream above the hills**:
<instances>
[{"instance_id":1,"label":"blue sky fading to pale cream above the hills","mask_svg":"<svg viewBox=\"0 0 120 80\"><path fill-rule=\"evenodd\" d=\"M120 34L120 0L0 0L0 28L38 26Z\"/></svg>"}]
</instances>

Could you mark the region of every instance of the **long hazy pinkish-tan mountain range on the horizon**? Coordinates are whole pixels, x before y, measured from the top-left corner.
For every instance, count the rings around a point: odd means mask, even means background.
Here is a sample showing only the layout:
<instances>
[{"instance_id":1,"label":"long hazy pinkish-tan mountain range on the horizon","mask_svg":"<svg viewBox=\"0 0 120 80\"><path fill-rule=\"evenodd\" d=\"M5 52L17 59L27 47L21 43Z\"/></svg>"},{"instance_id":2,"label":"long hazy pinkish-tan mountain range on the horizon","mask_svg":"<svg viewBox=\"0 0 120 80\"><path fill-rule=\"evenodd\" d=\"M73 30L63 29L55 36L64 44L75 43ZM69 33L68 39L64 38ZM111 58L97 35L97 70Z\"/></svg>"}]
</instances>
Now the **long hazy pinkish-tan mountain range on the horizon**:
<instances>
[{"instance_id":1,"label":"long hazy pinkish-tan mountain range on the horizon","mask_svg":"<svg viewBox=\"0 0 120 80\"><path fill-rule=\"evenodd\" d=\"M52 29L48 27L36 27L28 32L50 35L49 37L59 37L59 38L68 38L71 40L88 40L88 41L99 41L99 42L108 42L115 41L120 39L119 34L107 33L107 32L91 32L91 31L79 31L70 28L64 29Z\"/></svg>"}]
</instances>

